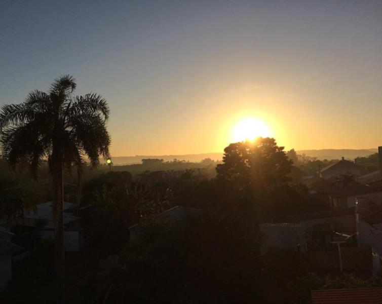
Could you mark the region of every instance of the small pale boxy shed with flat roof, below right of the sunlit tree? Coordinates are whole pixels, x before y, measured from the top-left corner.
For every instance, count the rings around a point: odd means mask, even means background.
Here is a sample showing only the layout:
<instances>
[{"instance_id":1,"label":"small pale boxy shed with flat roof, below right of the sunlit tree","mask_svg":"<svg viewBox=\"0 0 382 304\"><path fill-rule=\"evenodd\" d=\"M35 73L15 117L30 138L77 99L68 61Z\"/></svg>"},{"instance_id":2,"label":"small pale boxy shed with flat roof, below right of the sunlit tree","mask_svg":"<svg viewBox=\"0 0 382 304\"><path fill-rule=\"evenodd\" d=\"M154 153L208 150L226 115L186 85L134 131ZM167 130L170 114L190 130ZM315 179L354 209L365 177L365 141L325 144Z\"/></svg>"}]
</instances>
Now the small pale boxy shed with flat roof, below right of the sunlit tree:
<instances>
[{"instance_id":1,"label":"small pale boxy shed with flat roof, below right of the sunlit tree","mask_svg":"<svg viewBox=\"0 0 382 304\"><path fill-rule=\"evenodd\" d=\"M307 251L307 233L304 224L298 223L262 223L261 254L269 248L295 248L300 252Z\"/></svg>"}]
</instances>

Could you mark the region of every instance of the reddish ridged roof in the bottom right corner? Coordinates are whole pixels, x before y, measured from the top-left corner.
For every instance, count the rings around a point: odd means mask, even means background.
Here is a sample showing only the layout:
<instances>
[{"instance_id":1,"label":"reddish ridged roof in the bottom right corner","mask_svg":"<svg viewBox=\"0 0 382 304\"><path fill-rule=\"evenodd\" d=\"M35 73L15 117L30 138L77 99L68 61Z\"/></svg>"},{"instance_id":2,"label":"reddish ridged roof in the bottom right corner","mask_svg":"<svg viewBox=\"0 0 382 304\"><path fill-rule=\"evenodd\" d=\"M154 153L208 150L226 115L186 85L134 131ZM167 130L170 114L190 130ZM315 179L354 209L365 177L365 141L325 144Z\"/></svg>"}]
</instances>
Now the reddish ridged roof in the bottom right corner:
<instances>
[{"instance_id":1,"label":"reddish ridged roof in the bottom right corner","mask_svg":"<svg viewBox=\"0 0 382 304\"><path fill-rule=\"evenodd\" d=\"M382 287L311 290L312 304L382 304Z\"/></svg>"}]
</instances>

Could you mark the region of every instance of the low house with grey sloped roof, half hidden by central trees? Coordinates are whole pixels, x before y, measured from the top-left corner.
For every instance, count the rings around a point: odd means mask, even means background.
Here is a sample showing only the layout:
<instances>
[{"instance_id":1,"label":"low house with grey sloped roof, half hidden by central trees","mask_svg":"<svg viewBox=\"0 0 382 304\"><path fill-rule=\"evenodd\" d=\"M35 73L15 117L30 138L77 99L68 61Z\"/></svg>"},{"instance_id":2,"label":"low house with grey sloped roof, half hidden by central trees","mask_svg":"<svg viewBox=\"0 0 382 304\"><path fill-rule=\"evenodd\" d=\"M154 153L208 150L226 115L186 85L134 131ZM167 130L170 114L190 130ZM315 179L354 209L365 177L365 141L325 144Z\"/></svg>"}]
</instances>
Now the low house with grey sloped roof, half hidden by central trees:
<instances>
[{"instance_id":1,"label":"low house with grey sloped roof, half hidden by central trees","mask_svg":"<svg viewBox=\"0 0 382 304\"><path fill-rule=\"evenodd\" d=\"M197 208L175 206L162 213L157 214L154 218L159 222L184 221L189 214L199 213L201 210ZM129 227L130 241L137 240L142 233L143 226L136 223Z\"/></svg>"}]
</instances>

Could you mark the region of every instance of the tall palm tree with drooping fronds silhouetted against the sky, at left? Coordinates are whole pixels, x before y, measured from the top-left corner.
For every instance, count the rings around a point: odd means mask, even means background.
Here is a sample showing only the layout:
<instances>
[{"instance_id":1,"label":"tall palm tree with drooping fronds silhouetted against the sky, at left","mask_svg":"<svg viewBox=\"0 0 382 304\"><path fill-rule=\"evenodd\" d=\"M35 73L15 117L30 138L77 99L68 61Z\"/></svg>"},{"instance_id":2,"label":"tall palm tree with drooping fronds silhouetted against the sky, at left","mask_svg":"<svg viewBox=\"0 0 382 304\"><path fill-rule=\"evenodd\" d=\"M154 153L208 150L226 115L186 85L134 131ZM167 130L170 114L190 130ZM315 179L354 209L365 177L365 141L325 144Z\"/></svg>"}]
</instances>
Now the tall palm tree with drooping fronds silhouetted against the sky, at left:
<instances>
[{"instance_id":1,"label":"tall palm tree with drooping fronds silhouetted against the sky, at left","mask_svg":"<svg viewBox=\"0 0 382 304\"><path fill-rule=\"evenodd\" d=\"M28 164L34 177L47 160L53 185L55 272L64 275L63 168L75 166L81 173L85 158L92 165L109 156L110 136L106 129L109 108L94 93L74 96L76 83L70 75L56 79L47 93L28 94L21 104L0 110L0 147L8 163L16 168Z\"/></svg>"}]
</instances>

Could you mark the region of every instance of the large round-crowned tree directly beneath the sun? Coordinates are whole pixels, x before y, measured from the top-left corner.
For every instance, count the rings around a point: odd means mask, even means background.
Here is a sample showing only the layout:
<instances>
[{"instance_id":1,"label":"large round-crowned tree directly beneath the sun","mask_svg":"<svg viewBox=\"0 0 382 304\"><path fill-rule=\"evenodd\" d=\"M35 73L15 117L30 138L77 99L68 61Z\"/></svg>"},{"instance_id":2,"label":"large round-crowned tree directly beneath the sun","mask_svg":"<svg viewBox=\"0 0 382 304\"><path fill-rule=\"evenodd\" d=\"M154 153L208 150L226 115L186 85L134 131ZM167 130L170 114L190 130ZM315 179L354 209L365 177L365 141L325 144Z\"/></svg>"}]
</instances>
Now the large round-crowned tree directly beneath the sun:
<instances>
[{"instance_id":1,"label":"large round-crowned tree directly beneath the sun","mask_svg":"<svg viewBox=\"0 0 382 304\"><path fill-rule=\"evenodd\" d=\"M291 168L284 147L274 138L259 137L227 146L223 164L217 165L216 171L221 188L230 191L228 204L239 204L238 210L247 215L256 213L257 220L263 220L270 212L272 192L289 180Z\"/></svg>"}]
</instances>

